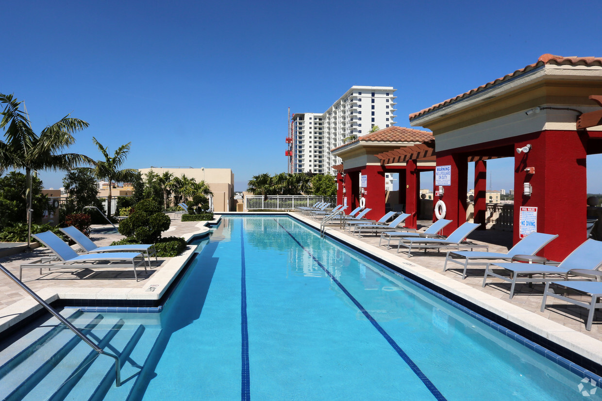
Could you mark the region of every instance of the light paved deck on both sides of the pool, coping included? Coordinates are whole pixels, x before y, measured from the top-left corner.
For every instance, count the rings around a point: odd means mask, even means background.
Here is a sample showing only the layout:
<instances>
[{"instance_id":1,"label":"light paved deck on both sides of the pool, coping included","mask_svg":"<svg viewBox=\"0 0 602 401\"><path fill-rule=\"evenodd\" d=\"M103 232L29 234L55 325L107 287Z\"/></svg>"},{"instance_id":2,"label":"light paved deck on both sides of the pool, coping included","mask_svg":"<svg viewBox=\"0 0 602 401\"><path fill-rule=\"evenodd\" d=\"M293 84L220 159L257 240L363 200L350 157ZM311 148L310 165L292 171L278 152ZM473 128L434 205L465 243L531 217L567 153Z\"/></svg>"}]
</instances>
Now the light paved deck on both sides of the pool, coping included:
<instances>
[{"instance_id":1,"label":"light paved deck on both sides of the pool, coping included","mask_svg":"<svg viewBox=\"0 0 602 401\"><path fill-rule=\"evenodd\" d=\"M312 227L319 228L319 221L297 213L291 213L291 215ZM219 216L216 215L217 218ZM182 236L188 240L208 231L208 228L204 227L205 224L206 222L181 222L179 219L172 219L172 226L169 231L164 233L164 236ZM426 254L421 252L416 256L408 257L403 253L398 254L396 248L386 249L386 246L379 246L379 236L358 239L357 236L335 227L329 227L327 232L342 242L360 248L367 254L391 263L421 280L441 287L472 304L602 365L600 312L597 312L597 316L594 317L592 330L586 331L585 308L569 305L559 299L548 298L548 305L557 306L547 307L544 312L539 311L543 291L542 284L534 284L533 288L529 288L526 284L521 286L517 284L514 298L509 299L509 283L491 278L488 279L488 283L492 284L488 284L485 288L482 287L484 268L469 269L468 277L465 280L462 280L461 273L455 269L459 265L453 265L453 269L444 272L444 252L436 253L429 250ZM91 239L99 246L109 245L114 240L121 238L120 234L107 233L96 233L91 236ZM469 238L477 243L488 243L489 251L492 252L505 253L512 245L511 234L502 231L474 231ZM76 245L73 248L75 249ZM49 254L48 249L38 248L32 253L18 253L1 257L0 263L18 277L19 265L28 260L39 259L46 254ZM189 246L181 256L159 259L158 266L153 266L146 275L142 269L138 269L139 281L134 280L134 274L130 268L98 269L96 271L92 269L45 271L42 275L40 275L39 269L25 269L23 282L48 302L59 298L156 301L166 292L193 254L194 247ZM155 265L154 260L153 265ZM25 319L41 307L8 277L0 276L0 331L2 331ZM85 304L85 301L82 301L82 304Z\"/></svg>"}]
</instances>

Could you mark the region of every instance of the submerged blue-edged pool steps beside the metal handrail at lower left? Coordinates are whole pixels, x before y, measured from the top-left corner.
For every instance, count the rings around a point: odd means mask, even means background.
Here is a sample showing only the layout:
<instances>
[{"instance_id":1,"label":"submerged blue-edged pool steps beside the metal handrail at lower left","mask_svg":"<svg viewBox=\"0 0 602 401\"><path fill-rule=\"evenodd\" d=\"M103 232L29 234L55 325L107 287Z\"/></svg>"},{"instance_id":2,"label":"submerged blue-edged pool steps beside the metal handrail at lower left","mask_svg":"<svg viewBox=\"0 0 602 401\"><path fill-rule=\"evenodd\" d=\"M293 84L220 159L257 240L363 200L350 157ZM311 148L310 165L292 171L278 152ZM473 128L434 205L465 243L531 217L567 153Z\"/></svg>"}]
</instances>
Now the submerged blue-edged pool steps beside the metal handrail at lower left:
<instances>
[{"instance_id":1,"label":"submerged blue-edged pool steps beside the metal handrail at lower left","mask_svg":"<svg viewBox=\"0 0 602 401\"><path fill-rule=\"evenodd\" d=\"M72 309L61 314L102 349L119 356L122 386L114 384L113 360L98 355L52 317L0 354L0 399L126 400L160 330L146 329L140 321L126 324L111 314Z\"/></svg>"}]
</instances>

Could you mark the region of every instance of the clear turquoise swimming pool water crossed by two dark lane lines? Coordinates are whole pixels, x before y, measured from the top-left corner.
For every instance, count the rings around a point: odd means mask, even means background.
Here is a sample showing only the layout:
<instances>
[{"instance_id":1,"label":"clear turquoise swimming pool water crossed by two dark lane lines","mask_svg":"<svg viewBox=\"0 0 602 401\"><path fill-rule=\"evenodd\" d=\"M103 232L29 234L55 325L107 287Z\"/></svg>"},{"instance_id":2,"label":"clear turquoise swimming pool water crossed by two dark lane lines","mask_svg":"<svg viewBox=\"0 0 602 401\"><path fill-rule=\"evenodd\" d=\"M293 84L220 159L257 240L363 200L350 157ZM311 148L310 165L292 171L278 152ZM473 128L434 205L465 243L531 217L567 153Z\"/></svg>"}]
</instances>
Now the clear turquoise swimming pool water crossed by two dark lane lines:
<instances>
[{"instance_id":1,"label":"clear turquoise swimming pool water crossed by two dark lane lines","mask_svg":"<svg viewBox=\"0 0 602 401\"><path fill-rule=\"evenodd\" d=\"M287 217L222 218L160 321L133 399L582 397L580 376Z\"/></svg>"}]
</instances>

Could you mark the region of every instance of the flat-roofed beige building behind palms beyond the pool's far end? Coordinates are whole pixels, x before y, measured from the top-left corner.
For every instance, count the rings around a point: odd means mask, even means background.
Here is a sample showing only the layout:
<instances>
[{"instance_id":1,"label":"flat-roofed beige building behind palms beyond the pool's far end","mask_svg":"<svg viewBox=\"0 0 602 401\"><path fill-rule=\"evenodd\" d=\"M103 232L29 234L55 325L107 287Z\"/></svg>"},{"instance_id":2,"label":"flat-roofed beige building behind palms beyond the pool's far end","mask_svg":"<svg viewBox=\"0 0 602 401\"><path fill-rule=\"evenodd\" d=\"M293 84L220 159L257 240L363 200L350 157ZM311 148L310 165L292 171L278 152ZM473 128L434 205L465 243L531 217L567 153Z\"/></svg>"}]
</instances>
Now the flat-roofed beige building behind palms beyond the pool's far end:
<instances>
[{"instance_id":1,"label":"flat-roofed beige building behind palms beyond the pool's far end","mask_svg":"<svg viewBox=\"0 0 602 401\"><path fill-rule=\"evenodd\" d=\"M176 177L182 174L188 178L194 178L196 182L205 181L211 192L213 192L213 211L231 212L235 207L234 203L234 173L229 168L140 168L138 171L143 175L153 171L160 176L169 171Z\"/></svg>"}]
</instances>

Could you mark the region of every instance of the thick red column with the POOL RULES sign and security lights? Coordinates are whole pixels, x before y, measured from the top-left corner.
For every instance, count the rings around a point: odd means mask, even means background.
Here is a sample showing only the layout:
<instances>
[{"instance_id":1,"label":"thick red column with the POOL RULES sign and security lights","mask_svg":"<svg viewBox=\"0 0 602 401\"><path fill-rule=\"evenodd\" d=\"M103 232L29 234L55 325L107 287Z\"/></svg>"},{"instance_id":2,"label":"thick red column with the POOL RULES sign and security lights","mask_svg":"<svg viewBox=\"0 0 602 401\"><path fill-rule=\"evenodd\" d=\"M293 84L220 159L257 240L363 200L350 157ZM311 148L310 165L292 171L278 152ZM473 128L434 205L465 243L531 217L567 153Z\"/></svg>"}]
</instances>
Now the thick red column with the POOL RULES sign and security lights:
<instances>
[{"instance_id":1,"label":"thick red column with the POOL RULES sign and security lights","mask_svg":"<svg viewBox=\"0 0 602 401\"><path fill-rule=\"evenodd\" d=\"M515 153L514 243L520 240L521 206L537 207L537 231L559 237L540 254L563 260L586 240L586 145L576 131L544 131L517 142L531 144L528 153ZM526 168L535 168L529 174ZM532 170L531 170L532 171ZM524 195L524 183L532 195Z\"/></svg>"}]
</instances>

